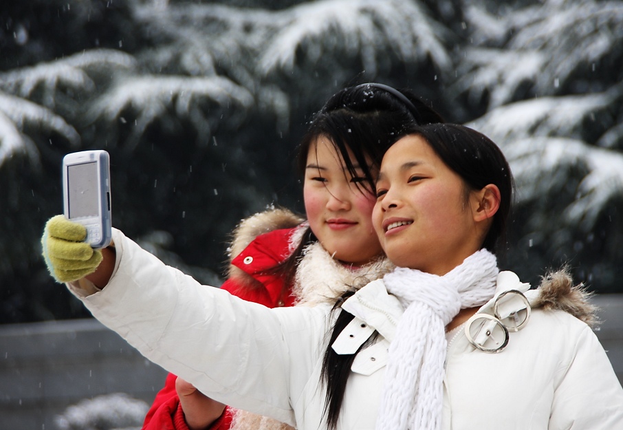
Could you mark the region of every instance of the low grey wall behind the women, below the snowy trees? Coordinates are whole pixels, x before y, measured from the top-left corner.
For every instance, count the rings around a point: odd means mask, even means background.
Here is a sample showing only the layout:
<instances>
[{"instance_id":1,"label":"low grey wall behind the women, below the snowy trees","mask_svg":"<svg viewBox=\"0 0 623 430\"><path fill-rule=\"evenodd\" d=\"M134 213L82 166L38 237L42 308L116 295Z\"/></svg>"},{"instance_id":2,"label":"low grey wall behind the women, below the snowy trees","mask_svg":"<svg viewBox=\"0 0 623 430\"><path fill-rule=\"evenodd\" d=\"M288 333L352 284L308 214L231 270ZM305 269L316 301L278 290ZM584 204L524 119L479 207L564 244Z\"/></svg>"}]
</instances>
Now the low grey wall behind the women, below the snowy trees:
<instances>
[{"instance_id":1,"label":"low grey wall behind the women, below the snowy trees","mask_svg":"<svg viewBox=\"0 0 623 430\"><path fill-rule=\"evenodd\" d=\"M596 332L623 381L623 294L595 297ZM54 430L68 405L127 393L151 402L166 372L95 320L0 326L0 429Z\"/></svg>"}]
</instances>

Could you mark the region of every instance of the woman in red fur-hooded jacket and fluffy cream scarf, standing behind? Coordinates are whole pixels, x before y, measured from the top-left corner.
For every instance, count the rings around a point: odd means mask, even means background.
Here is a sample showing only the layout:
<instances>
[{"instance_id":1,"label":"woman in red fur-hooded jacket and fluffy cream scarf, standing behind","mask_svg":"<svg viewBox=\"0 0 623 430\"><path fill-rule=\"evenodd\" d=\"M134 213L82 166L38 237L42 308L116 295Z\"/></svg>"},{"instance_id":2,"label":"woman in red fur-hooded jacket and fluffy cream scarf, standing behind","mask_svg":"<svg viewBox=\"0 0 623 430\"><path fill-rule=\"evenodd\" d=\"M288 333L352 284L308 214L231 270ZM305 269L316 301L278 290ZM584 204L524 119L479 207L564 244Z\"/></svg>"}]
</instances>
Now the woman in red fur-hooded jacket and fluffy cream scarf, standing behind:
<instances>
[{"instance_id":1,"label":"woman in red fur-hooded jacket and fluffy cream scarf, standing behind","mask_svg":"<svg viewBox=\"0 0 623 430\"><path fill-rule=\"evenodd\" d=\"M371 224L382 157L407 124L443 122L410 92L369 83L342 89L312 120L298 151L307 221L283 209L234 230L221 288L270 308L335 300L389 271ZM232 425L232 418L234 418ZM289 428L235 411L169 374L144 430Z\"/></svg>"}]
</instances>

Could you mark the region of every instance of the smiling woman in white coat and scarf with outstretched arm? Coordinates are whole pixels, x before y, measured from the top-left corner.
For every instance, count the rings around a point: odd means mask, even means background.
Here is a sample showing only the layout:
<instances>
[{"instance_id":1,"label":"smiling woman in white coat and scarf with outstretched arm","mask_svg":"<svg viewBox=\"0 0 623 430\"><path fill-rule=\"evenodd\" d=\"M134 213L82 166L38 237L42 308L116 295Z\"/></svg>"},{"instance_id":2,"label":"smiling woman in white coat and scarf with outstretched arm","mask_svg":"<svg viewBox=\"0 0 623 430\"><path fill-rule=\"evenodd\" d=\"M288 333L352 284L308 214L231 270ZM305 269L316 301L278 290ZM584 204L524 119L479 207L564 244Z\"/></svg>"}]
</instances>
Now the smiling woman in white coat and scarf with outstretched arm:
<instances>
[{"instance_id":1,"label":"smiling woman in white coat and scarf with outstretched arm","mask_svg":"<svg viewBox=\"0 0 623 430\"><path fill-rule=\"evenodd\" d=\"M496 266L512 195L501 151L457 125L404 135L373 211L400 268L335 306L203 288L118 230L105 288L69 288L155 363L298 429L623 429L623 389L568 312L590 316L581 292L564 273L529 290Z\"/></svg>"}]
</instances>

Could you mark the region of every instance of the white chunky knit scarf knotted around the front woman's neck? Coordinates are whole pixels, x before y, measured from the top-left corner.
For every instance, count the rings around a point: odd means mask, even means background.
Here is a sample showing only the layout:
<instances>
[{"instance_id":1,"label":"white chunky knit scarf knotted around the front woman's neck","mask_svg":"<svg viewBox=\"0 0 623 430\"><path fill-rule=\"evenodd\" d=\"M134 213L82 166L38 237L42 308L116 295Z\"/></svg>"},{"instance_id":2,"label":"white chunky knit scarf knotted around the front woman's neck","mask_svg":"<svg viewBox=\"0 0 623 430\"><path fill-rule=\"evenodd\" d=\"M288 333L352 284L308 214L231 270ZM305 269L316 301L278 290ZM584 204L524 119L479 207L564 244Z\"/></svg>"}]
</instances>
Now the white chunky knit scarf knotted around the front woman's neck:
<instances>
[{"instance_id":1,"label":"white chunky knit scarf knotted around the front woman's neck","mask_svg":"<svg viewBox=\"0 0 623 430\"><path fill-rule=\"evenodd\" d=\"M389 347L377 430L438 430L443 407L446 325L495 292L496 258L479 250L444 276L397 268L387 291L405 308Z\"/></svg>"}]
</instances>

